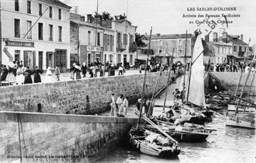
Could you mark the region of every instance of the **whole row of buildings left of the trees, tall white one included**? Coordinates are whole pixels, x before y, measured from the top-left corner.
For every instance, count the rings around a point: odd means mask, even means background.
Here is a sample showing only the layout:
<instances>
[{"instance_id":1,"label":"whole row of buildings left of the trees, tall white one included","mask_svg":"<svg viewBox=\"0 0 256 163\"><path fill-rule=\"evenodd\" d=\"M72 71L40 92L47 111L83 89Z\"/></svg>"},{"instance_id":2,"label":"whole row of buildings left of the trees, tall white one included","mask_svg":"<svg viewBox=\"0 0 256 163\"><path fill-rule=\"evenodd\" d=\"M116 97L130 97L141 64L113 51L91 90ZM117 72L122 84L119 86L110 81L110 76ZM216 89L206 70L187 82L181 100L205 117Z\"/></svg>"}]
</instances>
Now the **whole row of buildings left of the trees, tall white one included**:
<instances>
[{"instance_id":1,"label":"whole row of buildings left of the trees, tall white one included","mask_svg":"<svg viewBox=\"0 0 256 163\"><path fill-rule=\"evenodd\" d=\"M73 62L87 65L135 64L136 26L123 19L95 23L70 12L58 0L8 0L0 3L0 62L67 72Z\"/></svg>"}]
</instances>

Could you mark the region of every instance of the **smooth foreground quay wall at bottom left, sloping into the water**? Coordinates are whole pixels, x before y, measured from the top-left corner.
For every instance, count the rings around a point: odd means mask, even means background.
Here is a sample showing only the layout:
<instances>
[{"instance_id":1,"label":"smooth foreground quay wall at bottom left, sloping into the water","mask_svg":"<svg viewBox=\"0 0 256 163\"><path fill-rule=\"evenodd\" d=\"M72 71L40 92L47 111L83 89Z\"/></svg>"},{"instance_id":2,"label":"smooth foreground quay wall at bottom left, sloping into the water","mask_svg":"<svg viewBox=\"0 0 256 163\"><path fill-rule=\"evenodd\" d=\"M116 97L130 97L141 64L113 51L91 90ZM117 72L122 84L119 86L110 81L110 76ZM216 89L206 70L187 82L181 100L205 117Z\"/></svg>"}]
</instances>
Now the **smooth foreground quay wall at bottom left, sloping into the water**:
<instances>
[{"instance_id":1,"label":"smooth foreground quay wall at bottom left, sloping into the water","mask_svg":"<svg viewBox=\"0 0 256 163\"><path fill-rule=\"evenodd\" d=\"M128 143L128 131L136 122L124 117L1 111L0 162L93 162Z\"/></svg>"}]
</instances>

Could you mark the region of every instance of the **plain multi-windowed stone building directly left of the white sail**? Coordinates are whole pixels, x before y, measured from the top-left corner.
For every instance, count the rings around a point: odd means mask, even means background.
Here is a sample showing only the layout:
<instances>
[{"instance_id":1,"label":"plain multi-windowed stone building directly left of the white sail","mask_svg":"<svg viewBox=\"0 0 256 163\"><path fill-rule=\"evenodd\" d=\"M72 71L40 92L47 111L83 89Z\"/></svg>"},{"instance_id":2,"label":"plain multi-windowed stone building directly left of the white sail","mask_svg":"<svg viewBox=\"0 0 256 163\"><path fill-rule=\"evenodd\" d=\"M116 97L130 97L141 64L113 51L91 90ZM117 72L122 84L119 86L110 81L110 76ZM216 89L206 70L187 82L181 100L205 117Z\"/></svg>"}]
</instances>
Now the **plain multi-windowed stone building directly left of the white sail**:
<instances>
[{"instance_id":1,"label":"plain multi-windowed stone building directly left of the white sail","mask_svg":"<svg viewBox=\"0 0 256 163\"><path fill-rule=\"evenodd\" d=\"M155 56L161 55L162 52L173 58L173 62L181 61L184 63L185 55L187 61L191 61L191 54L193 52L195 43L194 35L187 34L187 47L186 47L186 34L175 35L152 35L151 49ZM185 52L187 49L187 52ZM186 54L185 54L186 53Z\"/></svg>"}]
</instances>

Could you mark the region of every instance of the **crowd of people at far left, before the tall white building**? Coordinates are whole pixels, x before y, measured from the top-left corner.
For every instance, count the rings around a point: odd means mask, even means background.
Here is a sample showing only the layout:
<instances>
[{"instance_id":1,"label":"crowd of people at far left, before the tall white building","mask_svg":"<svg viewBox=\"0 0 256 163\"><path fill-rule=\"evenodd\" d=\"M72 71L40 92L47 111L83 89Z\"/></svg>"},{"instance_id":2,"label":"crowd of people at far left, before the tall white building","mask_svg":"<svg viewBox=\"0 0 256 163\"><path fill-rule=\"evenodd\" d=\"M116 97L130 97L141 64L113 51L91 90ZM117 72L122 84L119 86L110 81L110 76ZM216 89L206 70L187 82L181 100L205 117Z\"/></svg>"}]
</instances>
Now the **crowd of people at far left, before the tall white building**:
<instances>
[{"instance_id":1,"label":"crowd of people at far left, before the tall white building","mask_svg":"<svg viewBox=\"0 0 256 163\"><path fill-rule=\"evenodd\" d=\"M24 66L22 61L12 61L12 64L6 66L1 65L0 67L0 82L6 83L7 85L15 84L32 84L32 83L41 83L41 75L43 70L36 66L35 68L31 68L30 66ZM41 74L41 75L40 75ZM56 80L60 80L60 68L57 65L55 68ZM33 79L31 75L34 75ZM51 68L49 67L46 71L46 78L49 78L49 81L52 76ZM4 82L5 81L5 82Z\"/></svg>"}]
</instances>

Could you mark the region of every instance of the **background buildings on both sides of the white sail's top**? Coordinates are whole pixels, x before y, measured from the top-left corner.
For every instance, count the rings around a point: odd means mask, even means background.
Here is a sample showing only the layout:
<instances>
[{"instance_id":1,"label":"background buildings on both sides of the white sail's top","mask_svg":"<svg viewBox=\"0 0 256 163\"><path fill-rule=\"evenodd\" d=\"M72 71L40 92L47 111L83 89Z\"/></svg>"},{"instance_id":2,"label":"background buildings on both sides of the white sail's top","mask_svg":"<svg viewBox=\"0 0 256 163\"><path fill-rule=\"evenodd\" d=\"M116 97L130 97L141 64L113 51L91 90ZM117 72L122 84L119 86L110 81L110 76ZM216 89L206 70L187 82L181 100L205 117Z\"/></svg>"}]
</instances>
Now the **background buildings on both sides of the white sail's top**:
<instances>
[{"instance_id":1,"label":"background buildings on both sides of the white sail's top","mask_svg":"<svg viewBox=\"0 0 256 163\"><path fill-rule=\"evenodd\" d=\"M148 44L148 39L149 36L145 33L143 40L146 44ZM171 61L184 63L186 55L189 62L191 61L195 41L196 38L192 34L152 35L151 51L149 52L151 60L160 62L165 58L164 62L167 64ZM244 61L244 57L248 57L249 60L253 57L253 48L244 42L244 35L228 35L227 32L223 32L219 37L218 33L214 32L212 40L210 41L210 35L205 35L202 44L205 63L208 63L208 61L211 61L214 65L224 62L237 63ZM144 62L147 51L148 47L138 48L137 59Z\"/></svg>"}]
</instances>

